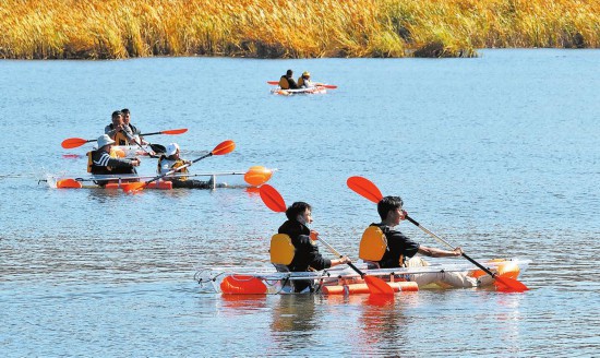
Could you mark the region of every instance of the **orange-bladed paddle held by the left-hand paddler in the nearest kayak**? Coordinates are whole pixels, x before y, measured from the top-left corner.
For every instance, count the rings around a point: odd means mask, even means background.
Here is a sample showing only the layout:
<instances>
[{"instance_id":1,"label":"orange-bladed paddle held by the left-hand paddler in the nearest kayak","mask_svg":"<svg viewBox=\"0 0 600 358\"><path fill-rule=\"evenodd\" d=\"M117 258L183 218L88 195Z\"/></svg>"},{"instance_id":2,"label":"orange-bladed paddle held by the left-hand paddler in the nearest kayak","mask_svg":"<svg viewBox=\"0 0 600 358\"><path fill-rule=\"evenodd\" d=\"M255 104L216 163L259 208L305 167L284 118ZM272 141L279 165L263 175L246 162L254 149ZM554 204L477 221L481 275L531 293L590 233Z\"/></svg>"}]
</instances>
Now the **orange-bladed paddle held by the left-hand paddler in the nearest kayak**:
<instances>
[{"instance_id":1,"label":"orange-bladed paddle held by the left-hand paddler in the nearest kayak","mask_svg":"<svg viewBox=\"0 0 600 358\"><path fill-rule=\"evenodd\" d=\"M261 187L260 194L263 203L268 208L276 213L286 212L286 202L284 201L284 198L281 198L281 194L279 194L279 192L275 188L269 184L264 184ZM337 252L337 250L335 250L329 243L327 243L327 241L323 240L322 238L319 238L319 240L323 242L323 244L325 244L335 255L337 255L338 258L344 258L344 255ZM352 267L352 270L356 271L362 279L364 279L367 286L369 286L369 291L371 294L394 295L394 288L387 285L383 279L374 276L368 276L351 262L348 262L348 266Z\"/></svg>"}]
</instances>

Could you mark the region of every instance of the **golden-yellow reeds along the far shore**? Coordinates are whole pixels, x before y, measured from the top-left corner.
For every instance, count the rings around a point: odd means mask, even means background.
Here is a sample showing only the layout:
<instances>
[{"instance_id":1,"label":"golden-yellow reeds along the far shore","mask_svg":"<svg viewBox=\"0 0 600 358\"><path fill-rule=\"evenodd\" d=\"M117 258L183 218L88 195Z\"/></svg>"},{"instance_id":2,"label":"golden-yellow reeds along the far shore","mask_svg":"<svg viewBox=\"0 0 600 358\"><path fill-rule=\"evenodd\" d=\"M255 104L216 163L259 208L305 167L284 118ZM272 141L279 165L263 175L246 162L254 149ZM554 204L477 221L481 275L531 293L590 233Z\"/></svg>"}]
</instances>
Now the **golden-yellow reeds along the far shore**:
<instances>
[{"instance_id":1,"label":"golden-yellow reeds along the far shore","mask_svg":"<svg viewBox=\"0 0 600 358\"><path fill-rule=\"evenodd\" d=\"M0 58L476 57L599 48L598 0L0 0Z\"/></svg>"}]
</instances>

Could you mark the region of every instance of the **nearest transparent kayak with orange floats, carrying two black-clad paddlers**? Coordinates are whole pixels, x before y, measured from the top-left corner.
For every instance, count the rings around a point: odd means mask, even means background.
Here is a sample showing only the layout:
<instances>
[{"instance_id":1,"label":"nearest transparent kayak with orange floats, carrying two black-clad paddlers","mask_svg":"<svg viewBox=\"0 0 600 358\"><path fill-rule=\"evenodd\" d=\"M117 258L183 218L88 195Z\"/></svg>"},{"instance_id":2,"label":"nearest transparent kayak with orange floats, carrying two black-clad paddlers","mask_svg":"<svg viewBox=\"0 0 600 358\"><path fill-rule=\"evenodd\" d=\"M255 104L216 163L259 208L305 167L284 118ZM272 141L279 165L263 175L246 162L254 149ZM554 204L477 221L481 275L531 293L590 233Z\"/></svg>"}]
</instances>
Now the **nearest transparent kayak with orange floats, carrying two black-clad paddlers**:
<instances>
[{"instance_id":1,"label":"nearest transparent kayak with orange floats, carrying two black-clad paddlers","mask_svg":"<svg viewBox=\"0 0 600 358\"><path fill-rule=\"evenodd\" d=\"M516 279L530 260L500 259L483 265L501 277ZM368 276L380 277L394 291L417 291L423 288L494 287L493 278L469 263L431 264L401 268L361 268ZM291 294L295 282L310 282L312 291L323 295L368 294L364 281L350 267L334 267L319 272L277 272L274 267L204 268L195 281L224 295ZM310 293L310 290L307 290Z\"/></svg>"}]
</instances>

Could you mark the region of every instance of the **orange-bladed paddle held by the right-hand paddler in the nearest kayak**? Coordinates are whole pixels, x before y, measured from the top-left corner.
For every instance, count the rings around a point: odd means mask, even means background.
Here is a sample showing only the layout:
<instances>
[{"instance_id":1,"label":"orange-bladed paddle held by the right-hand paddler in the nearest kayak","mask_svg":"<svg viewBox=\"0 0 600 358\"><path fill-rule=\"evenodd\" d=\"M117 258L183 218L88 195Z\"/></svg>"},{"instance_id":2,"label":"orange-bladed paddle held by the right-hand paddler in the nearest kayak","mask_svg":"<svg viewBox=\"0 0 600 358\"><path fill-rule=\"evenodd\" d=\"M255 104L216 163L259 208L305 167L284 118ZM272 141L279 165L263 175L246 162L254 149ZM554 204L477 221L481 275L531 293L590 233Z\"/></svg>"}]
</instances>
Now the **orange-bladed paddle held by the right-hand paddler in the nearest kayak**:
<instances>
[{"instance_id":1,"label":"orange-bladed paddle held by the right-hand paddler in the nearest kayak","mask_svg":"<svg viewBox=\"0 0 600 358\"><path fill-rule=\"evenodd\" d=\"M346 183L348 184L348 188L350 188L352 191L355 191L356 193L358 193L359 195L361 195L363 198L367 198L368 200L370 200L374 203L379 203L383 199L383 195L382 195L380 189L372 181L370 181L367 178L350 177L350 178L348 178ZM437 235L431 232L427 228L422 227L418 222L412 219L412 217L408 216L408 214L406 214L405 217L406 217L407 220L412 223L415 226L417 226L418 228L423 230L425 234L430 235L434 239L439 240L440 242L446 244L448 248L454 250L454 247L452 244L449 244L449 242L442 239ZM488 275L492 276L494 278L494 285L496 286L496 288L499 290L523 293L523 291L529 289L527 286L525 286L523 283L520 283L517 279L509 278L509 277L503 277L499 274L494 274L488 267L485 267L482 264L480 264L479 262L475 261L473 259L471 259L470 256L468 256L464 252L463 252L463 258L467 259L473 265L476 265L477 267L483 270L483 272L485 272Z\"/></svg>"}]
</instances>

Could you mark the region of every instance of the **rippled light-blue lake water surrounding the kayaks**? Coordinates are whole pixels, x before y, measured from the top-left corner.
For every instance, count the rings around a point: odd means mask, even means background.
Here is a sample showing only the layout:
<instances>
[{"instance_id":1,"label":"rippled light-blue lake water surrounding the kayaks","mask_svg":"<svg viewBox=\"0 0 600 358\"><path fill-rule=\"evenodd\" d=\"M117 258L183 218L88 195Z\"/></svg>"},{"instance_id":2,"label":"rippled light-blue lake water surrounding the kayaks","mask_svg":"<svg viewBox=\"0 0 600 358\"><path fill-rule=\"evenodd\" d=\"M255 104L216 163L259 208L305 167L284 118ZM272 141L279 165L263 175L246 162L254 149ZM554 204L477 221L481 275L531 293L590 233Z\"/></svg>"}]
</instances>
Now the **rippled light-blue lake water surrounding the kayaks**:
<instances>
[{"instance_id":1,"label":"rippled light-blue lake water surrounding the kayaks","mask_svg":"<svg viewBox=\"0 0 600 358\"><path fill-rule=\"evenodd\" d=\"M600 51L483 50L476 59L0 61L0 354L22 356L597 356L600 350ZM309 70L339 87L281 97ZM526 294L220 297L200 267L263 266L284 217L243 189L49 189L85 174L110 114L188 128L191 171L279 170L288 204L357 258L377 219L360 175L477 260L532 260ZM154 174L142 159L140 171ZM439 247L409 223L408 236ZM325 254L325 248L321 249ZM442 259L457 262L460 259Z\"/></svg>"}]
</instances>

